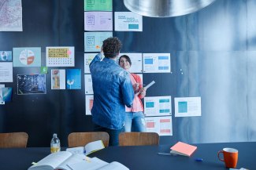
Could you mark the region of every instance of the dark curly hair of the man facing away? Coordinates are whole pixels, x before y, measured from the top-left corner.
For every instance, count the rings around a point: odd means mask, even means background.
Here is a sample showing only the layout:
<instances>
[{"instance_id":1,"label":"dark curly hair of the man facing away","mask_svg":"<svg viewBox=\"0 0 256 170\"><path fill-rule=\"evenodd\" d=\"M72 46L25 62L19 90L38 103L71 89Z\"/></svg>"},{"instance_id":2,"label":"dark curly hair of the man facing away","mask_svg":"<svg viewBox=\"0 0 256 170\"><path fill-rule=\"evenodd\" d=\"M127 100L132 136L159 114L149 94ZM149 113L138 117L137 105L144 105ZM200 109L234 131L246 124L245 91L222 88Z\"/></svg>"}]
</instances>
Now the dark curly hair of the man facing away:
<instances>
[{"instance_id":1,"label":"dark curly hair of the man facing away","mask_svg":"<svg viewBox=\"0 0 256 170\"><path fill-rule=\"evenodd\" d=\"M120 52L122 43L117 37L107 38L103 41L103 52L107 58L115 58Z\"/></svg>"}]
</instances>

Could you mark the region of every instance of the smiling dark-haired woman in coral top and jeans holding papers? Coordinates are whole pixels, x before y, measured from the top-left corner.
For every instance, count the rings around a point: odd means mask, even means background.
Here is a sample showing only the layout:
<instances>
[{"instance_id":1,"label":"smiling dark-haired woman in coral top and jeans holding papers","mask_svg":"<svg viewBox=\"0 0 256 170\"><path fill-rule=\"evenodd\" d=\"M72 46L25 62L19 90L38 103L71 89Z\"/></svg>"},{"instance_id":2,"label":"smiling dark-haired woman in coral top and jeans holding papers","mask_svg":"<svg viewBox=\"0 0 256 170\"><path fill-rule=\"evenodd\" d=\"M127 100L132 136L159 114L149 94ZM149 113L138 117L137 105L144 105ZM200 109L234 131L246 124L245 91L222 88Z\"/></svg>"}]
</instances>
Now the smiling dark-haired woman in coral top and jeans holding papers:
<instances>
[{"instance_id":1,"label":"smiling dark-haired woman in coral top and jeans holding papers","mask_svg":"<svg viewBox=\"0 0 256 170\"><path fill-rule=\"evenodd\" d=\"M132 66L132 61L129 56L123 55L119 58L119 65L128 71ZM143 114L143 103L141 99L146 96L146 89L143 89L142 81L139 75L130 73L132 87L134 89L134 100L131 108L125 107L125 132L146 132L145 118Z\"/></svg>"}]
</instances>

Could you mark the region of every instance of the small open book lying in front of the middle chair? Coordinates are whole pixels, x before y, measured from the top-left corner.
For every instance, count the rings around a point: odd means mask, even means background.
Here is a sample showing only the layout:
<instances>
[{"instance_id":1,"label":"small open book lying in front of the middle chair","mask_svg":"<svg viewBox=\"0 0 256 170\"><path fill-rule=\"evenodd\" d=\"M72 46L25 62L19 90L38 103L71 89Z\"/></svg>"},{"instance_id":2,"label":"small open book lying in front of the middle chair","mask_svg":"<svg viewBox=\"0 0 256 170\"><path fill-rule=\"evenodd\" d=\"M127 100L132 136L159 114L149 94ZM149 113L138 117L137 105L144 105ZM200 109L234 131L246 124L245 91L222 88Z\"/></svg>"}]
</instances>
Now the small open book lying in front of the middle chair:
<instances>
[{"instance_id":1,"label":"small open book lying in front of the middle chair","mask_svg":"<svg viewBox=\"0 0 256 170\"><path fill-rule=\"evenodd\" d=\"M102 140L97 140L95 142L87 143L85 146L72 147L68 148L66 151L71 152L72 154L91 154L97 150L104 149L105 146L102 143Z\"/></svg>"}]
</instances>

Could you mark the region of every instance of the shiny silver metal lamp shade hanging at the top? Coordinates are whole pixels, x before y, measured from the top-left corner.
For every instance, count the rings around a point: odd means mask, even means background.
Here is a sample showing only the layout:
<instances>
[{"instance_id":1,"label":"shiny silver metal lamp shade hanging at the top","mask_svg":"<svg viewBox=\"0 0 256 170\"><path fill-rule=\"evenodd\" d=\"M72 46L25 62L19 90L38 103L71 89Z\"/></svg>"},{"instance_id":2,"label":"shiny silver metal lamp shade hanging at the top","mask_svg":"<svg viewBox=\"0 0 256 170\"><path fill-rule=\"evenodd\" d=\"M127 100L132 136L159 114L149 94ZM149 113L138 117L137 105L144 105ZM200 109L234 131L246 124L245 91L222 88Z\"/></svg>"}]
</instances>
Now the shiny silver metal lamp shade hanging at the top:
<instances>
[{"instance_id":1,"label":"shiny silver metal lamp shade hanging at the top","mask_svg":"<svg viewBox=\"0 0 256 170\"><path fill-rule=\"evenodd\" d=\"M150 17L183 16L210 5L215 0L124 0L133 13Z\"/></svg>"}]
</instances>

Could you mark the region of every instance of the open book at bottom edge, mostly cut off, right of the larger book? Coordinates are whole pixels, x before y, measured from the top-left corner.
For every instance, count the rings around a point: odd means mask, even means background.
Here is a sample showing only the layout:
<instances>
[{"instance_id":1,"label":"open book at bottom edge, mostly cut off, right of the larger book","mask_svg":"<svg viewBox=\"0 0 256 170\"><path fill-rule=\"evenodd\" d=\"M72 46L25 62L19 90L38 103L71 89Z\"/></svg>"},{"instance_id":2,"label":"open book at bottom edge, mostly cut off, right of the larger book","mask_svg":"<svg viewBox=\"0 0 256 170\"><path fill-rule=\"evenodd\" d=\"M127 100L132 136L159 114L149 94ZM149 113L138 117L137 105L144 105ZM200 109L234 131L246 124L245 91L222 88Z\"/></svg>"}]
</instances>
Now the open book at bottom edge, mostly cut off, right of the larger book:
<instances>
[{"instance_id":1,"label":"open book at bottom edge, mostly cut off, right of the larger book","mask_svg":"<svg viewBox=\"0 0 256 170\"><path fill-rule=\"evenodd\" d=\"M117 161L107 163L98 157L92 157L90 161L82 161L68 166L72 170L128 170L126 166Z\"/></svg>"}]
</instances>

